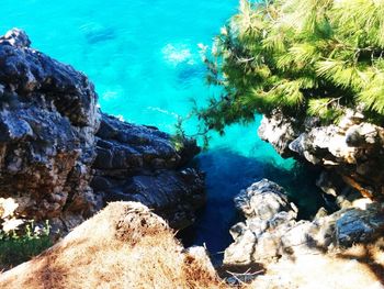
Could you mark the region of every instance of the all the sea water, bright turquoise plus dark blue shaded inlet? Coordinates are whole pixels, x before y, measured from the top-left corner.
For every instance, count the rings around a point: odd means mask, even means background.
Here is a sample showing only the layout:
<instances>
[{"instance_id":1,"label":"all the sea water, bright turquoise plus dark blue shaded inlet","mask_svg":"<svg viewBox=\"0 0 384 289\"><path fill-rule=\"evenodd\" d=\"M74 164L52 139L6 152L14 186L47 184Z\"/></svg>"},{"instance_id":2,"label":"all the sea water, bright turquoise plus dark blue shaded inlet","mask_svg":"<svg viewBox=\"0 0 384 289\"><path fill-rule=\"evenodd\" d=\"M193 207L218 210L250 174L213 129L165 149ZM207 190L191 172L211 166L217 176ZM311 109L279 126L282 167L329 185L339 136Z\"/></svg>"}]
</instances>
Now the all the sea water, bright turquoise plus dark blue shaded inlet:
<instances>
[{"instance_id":1,"label":"all the sea water, bright turquoise plus dark blue shaded inlet","mask_svg":"<svg viewBox=\"0 0 384 289\"><path fill-rule=\"evenodd\" d=\"M191 98L203 102L214 93L204 84L197 45L211 44L237 4L238 0L1 0L0 32L24 29L33 47L84 71L95 84L103 111L173 132L177 116L191 110ZM295 182L293 160L282 159L258 138L259 121L229 127L197 158L207 173L208 203L189 234L191 243L223 251L236 221L233 197L262 177L290 187L296 197L314 190L310 179ZM187 129L193 132L194 126L190 122ZM312 214L319 200L308 203L312 207L303 208Z\"/></svg>"}]
</instances>

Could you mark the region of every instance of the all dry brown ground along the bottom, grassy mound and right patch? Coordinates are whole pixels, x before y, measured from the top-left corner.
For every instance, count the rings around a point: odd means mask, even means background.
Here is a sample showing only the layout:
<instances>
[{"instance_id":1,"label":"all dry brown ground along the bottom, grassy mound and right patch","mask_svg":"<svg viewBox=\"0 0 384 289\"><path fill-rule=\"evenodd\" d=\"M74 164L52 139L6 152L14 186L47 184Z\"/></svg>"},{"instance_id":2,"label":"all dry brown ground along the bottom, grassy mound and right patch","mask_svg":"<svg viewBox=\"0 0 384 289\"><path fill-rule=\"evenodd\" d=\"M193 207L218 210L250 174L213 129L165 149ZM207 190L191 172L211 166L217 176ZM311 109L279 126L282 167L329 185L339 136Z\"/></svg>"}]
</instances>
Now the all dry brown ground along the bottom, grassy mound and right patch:
<instances>
[{"instance_id":1,"label":"all dry brown ground along the bottom, grassy mound and right patch","mask_svg":"<svg viewBox=\"0 0 384 289\"><path fill-rule=\"evenodd\" d=\"M240 266L241 267L241 266ZM384 242L262 266L223 267L259 275L237 288L384 288ZM239 274L237 277L236 275ZM187 252L146 207L111 203L42 255L0 275L0 288L228 288L204 254Z\"/></svg>"}]
</instances>

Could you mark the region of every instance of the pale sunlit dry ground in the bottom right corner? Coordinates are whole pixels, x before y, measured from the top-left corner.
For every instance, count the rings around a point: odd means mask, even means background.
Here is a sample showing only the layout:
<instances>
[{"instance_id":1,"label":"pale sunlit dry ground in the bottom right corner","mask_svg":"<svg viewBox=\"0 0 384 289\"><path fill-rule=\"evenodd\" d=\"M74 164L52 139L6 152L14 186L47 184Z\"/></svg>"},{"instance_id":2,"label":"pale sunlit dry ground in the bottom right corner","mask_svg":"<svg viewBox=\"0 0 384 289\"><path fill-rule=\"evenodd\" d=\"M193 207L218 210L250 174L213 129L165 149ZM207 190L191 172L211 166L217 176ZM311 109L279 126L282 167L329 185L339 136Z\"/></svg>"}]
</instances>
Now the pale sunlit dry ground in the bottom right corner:
<instances>
[{"instance_id":1,"label":"pale sunlit dry ground in the bottom right corner","mask_svg":"<svg viewBox=\"0 0 384 289\"><path fill-rule=\"evenodd\" d=\"M302 255L268 266L248 288L384 288L384 249L382 241L355 245L348 251L324 255Z\"/></svg>"}]
</instances>

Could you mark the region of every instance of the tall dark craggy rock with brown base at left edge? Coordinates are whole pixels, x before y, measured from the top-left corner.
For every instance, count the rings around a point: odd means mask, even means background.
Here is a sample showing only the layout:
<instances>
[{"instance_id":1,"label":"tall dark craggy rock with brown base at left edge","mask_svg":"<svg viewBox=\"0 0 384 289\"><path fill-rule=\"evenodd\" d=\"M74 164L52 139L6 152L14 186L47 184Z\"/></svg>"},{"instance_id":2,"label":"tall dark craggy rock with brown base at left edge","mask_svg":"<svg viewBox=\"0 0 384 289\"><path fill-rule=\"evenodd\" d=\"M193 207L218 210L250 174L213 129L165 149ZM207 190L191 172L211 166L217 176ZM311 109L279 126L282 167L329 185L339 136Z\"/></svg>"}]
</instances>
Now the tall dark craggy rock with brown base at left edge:
<instances>
[{"instance_id":1,"label":"tall dark craggy rock with brown base at left edge","mask_svg":"<svg viewBox=\"0 0 384 289\"><path fill-rule=\"evenodd\" d=\"M20 30L0 38L0 196L36 221L83 220L101 208L89 187L98 97L84 75L30 44Z\"/></svg>"}]
</instances>

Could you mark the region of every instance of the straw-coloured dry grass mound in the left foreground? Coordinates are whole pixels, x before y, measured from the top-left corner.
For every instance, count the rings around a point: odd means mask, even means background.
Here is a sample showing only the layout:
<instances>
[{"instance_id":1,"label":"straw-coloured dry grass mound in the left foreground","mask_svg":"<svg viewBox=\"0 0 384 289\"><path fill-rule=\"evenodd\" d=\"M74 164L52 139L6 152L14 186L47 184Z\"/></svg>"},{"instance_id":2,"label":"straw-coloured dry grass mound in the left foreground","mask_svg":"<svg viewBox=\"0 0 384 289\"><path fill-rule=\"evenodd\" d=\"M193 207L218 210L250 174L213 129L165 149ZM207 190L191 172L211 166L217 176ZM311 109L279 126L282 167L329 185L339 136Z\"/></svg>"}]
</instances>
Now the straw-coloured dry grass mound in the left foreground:
<instances>
[{"instance_id":1,"label":"straw-coloured dry grass mound in the left foreground","mask_svg":"<svg viewBox=\"0 0 384 289\"><path fill-rule=\"evenodd\" d=\"M0 275L1 288L226 288L211 265L138 203L111 203L42 255Z\"/></svg>"}]
</instances>

